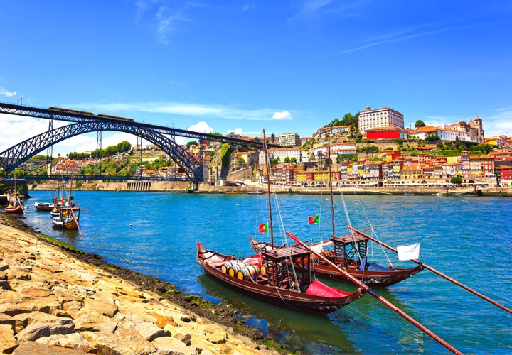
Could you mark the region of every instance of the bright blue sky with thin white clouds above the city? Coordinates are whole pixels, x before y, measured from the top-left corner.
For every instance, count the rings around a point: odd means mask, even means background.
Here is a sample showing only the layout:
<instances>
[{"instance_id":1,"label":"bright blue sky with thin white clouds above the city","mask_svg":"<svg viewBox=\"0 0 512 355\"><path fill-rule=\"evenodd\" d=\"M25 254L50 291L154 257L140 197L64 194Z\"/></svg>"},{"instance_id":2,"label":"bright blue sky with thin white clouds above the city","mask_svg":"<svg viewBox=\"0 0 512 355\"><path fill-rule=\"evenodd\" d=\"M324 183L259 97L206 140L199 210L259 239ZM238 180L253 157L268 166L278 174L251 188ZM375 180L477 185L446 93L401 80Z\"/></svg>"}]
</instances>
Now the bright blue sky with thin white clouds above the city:
<instances>
[{"instance_id":1,"label":"bright blue sky with thin white clouds above the city","mask_svg":"<svg viewBox=\"0 0 512 355\"><path fill-rule=\"evenodd\" d=\"M511 1L0 0L0 33L0 102L259 137L369 105L512 135ZM0 152L46 130L0 114ZM53 154L95 148L89 133Z\"/></svg>"}]
</instances>

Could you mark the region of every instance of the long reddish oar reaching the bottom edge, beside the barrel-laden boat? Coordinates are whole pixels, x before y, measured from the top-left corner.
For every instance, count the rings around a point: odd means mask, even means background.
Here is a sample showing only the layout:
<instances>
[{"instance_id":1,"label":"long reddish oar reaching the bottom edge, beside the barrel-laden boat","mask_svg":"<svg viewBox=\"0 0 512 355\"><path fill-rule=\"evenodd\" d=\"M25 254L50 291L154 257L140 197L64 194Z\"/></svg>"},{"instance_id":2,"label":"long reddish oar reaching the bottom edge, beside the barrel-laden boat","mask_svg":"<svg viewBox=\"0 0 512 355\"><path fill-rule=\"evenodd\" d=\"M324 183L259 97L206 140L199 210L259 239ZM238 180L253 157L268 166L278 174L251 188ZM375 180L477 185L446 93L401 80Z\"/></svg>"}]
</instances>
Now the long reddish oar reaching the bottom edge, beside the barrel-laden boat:
<instances>
[{"instance_id":1,"label":"long reddish oar reaching the bottom edge, beside the barrel-laden boat","mask_svg":"<svg viewBox=\"0 0 512 355\"><path fill-rule=\"evenodd\" d=\"M414 324L416 327L418 327L420 330L422 330L422 332L425 332L425 334L428 334L430 337L432 337L432 339L434 339L436 342L438 342L439 344L441 344L442 346L447 348L449 351L452 351L452 353L454 353L454 354L462 354L460 351L455 349L452 345L448 344L443 339L441 339L436 334L434 334L430 329L427 329L427 327L422 325L420 322L417 322L417 320L415 320L414 318L410 317L410 315L407 315L407 313L405 313L404 311L400 310L400 308L398 308L395 305L393 305L393 303L389 302L384 297L382 297L381 295L376 293L374 290L369 288L366 284L362 283L357 278L354 278L351 274L347 273L345 270L343 270L342 268L338 267L335 263L332 263L328 258L326 258L323 255L321 255L321 253L317 253L316 251L311 249L307 244L303 243L300 239L298 239L297 236L294 236L293 234L291 234L289 232L286 232L286 234L287 234L287 236L292 238L294 241L296 241L297 244L299 244L301 246L304 246L304 248L308 249L310 253L314 253L314 255L316 255L319 258L321 258L323 261L328 263L330 266L332 266L333 268L336 268L336 270L338 270L341 273L343 273L343 275L345 275L353 283L358 285L360 288L363 288L364 290L366 290L366 292L370 293L370 295L372 295L377 300L379 300L381 303L383 303L383 305L388 307L390 310L393 310L393 312L398 313L398 315L400 315L403 318L405 318L405 320L408 320L409 322Z\"/></svg>"}]
</instances>

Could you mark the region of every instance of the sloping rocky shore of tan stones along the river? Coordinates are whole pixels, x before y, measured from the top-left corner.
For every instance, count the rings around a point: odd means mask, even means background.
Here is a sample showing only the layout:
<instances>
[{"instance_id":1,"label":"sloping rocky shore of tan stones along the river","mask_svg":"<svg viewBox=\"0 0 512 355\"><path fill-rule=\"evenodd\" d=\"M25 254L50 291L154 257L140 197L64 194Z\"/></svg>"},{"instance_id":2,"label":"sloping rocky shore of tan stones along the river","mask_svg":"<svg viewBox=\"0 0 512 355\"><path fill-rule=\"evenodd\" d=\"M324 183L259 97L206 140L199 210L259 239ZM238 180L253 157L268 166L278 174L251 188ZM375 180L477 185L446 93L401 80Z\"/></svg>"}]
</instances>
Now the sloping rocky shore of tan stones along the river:
<instances>
[{"instance_id":1,"label":"sloping rocky shore of tan stones along the river","mask_svg":"<svg viewBox=\"0 0 512 355\"><path fill-rule=\"evenodd\" d=\"M3 354L279 354L235 315L0 215Z\"/></svg>"}]
</instances>

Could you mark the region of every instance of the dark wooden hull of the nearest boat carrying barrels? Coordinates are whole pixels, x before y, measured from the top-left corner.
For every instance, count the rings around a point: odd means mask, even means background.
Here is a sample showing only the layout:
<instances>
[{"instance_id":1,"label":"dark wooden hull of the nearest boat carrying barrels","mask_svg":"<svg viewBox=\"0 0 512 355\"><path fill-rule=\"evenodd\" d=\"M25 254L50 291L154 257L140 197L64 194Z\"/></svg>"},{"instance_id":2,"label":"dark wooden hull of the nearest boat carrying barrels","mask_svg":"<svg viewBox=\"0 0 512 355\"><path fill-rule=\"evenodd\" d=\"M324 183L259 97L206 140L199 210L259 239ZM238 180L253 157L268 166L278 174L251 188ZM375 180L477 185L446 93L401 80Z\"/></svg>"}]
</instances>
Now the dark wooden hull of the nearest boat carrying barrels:
<instances>
[{"instance_id":1,"label":"dark wooden hull of the nearest boat carrying barrels","mask_svg":"<svg viewBox=\"0 0 512 355\"><path fill-rule=\"evenodd\" d=\"M215 259L210 258L206 260L206 258L204 258L206 253L215 253ZM220 271L220 265L222 263L233 259L235 259L233 256L224 256L223 254L208 251L207 249L203 249L201 245L198 245L197 261L199 266L201 266L206 273L233 290L238 290L240 293L255 297L258 300L270 302L274 305L284 306L294 310L328 314L348 305L363 295L360 290L357 290L353 293L346 293L343 297L322 297L318 295L308 295L296 290L285 290L263 283L240 280L239 278L230 276L228 273ZM341 290L338 291L343 293Z\"/></svg>"}]
</instances>

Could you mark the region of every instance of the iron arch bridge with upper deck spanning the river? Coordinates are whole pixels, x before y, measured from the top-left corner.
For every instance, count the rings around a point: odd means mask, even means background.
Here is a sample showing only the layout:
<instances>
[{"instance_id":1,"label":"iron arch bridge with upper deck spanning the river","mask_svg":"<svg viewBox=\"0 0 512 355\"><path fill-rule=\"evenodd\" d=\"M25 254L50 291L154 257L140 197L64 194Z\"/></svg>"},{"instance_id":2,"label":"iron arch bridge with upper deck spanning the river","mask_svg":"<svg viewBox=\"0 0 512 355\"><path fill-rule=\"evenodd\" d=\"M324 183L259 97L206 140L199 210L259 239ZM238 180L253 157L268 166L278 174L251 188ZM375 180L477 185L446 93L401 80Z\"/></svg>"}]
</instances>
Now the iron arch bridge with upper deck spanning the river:
<instances>
[{"instance_id":1,"label":"iron arch bridge with upper deck spanning the river","mask_svg":"<svg viewBox=\"0 0 512 355\"><path fill-rule=\"evenodd\" d=\"M155 146L161 148L161 150L167 155L174 158L176 163L186 173L186 181L191 182L203 181L202 163L198 162L196 158L193 158L190 153L166 135L195 138L201 141L220 141L222 143L230 143L234 145L262 147L262 142L245 141L239 138L224 137L209 133L198 133L183 129L171 129L166 126L139 123L133 119L125 119L122 117L102 114L95 115L90 112L76 111L72 109L41 109L38 107L28 107L0 102L0 113L14 114L18 116L31 116L50 120L48 131L38 134L37 136L33 136L32 138L28 138L26 141L18 143L0 153L0 168L3 168L6 174L11 173L19 165L33 157L33 155L50 148L55 143L59 143L80 134L95 131L126 132L150 141ZM70 124L57 129L52 129L51 127L53 125L51 124L51 120L68 121ZM268 146L278 147L274 144L269 144Z\"/></svg>"}]
</instances>

